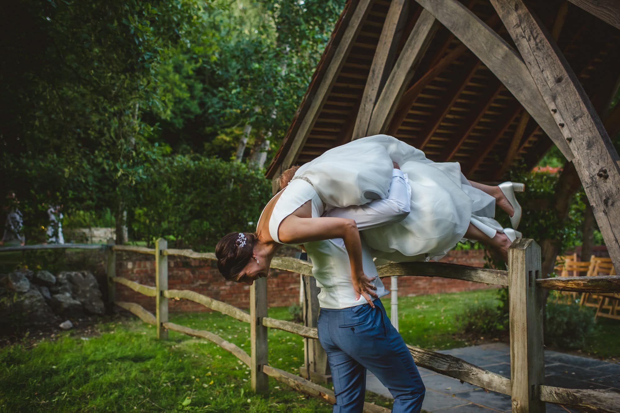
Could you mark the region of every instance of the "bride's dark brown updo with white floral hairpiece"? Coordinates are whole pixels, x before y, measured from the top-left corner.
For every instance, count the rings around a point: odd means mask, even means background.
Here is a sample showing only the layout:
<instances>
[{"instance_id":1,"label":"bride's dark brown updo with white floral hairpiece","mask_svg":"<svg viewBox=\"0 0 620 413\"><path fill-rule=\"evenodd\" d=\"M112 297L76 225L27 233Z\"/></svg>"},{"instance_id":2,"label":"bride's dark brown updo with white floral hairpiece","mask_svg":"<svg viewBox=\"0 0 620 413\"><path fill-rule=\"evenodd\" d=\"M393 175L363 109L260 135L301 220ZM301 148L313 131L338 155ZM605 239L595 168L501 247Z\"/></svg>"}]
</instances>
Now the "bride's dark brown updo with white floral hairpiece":
<instances>
[{"instance_id":1,"label":"bride's dark brown updo with white floral hairpiece","mask_svg":"<svg viewBox=\"0 0 620 413\"><path fill-rule=\"evenodd\" d=\"M215 246L218 270L228 281L233 281L249 262L255 240L256 237L250 232L231 232Z\"/></svg>"}]
</instances>

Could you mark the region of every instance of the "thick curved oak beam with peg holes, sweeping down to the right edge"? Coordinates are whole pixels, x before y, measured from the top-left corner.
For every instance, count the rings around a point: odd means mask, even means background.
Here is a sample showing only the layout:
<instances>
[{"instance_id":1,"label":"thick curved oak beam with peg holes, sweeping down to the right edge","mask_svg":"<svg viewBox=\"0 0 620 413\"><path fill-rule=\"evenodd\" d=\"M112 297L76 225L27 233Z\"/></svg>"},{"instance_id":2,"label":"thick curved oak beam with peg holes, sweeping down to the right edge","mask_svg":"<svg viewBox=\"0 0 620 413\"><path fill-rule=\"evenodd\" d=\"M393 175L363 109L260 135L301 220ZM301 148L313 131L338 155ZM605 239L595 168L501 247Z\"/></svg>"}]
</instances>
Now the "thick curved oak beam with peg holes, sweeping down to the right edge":
<instances>
[{"instance_id":1,"label":"thick curved oak beam with peg holes, sweeping down to the right edge","mask_svg":"<svg viewBox=\"0 0 620 413\"><path fill-rule=\"evenodd\" d=\"M620 157L556 42L521 0L491 0L575 155L609 256L620 268Z\"/></svg>"}]
</instances>

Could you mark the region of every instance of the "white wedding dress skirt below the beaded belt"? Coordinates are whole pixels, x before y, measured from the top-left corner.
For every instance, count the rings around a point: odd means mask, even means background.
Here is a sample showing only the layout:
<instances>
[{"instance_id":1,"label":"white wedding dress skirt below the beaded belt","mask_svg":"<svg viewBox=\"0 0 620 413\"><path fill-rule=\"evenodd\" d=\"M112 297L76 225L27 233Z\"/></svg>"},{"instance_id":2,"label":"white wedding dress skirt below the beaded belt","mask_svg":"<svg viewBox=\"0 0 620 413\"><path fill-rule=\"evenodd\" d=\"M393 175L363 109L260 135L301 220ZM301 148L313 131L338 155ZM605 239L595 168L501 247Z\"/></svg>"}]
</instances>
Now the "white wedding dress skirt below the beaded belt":
<instances>
[{"instance_id":1,"label":"white wedding dress skirt below the beaded belt","mask_svg":"<svg viewBox=\"0 0 620 413\"><path fill-rule=\"evenodd\" d=\"M387 196L392 161L407 174L411 211L403 221L361 231L373 255L402 262L440 258L463 239L469 224L489 237L502 226L493 219L495 198L469 184L456 162L436 163L407 143L374 135L332 148L301 166L325 203L363 205Z\"/></svg>"}]
</instances>

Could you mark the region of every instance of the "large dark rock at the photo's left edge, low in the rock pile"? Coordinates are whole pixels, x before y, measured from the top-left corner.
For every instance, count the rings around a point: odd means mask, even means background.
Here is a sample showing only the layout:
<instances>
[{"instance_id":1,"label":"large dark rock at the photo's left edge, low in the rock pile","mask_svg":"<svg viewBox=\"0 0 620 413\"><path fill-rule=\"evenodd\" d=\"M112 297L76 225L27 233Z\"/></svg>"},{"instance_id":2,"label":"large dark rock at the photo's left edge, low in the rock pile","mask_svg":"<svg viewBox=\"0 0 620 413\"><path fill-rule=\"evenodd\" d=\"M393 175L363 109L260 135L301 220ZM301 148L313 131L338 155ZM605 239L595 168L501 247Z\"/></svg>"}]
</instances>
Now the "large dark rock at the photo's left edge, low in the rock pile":
<instances>
[{"instance_id":1,"label":"large dark rock at the photo's left edge, low in the rock pile","mask_svg":"<svg viewBox=\"0 0 620 413\"><path fill-rule=\"evenodd\" d=\"M17 294L15 299L0 300L0 312L2 312L0 323L9 328L49 325L58 321L58 317L47 305L42 294L34 288L24 294Z\"/></svg>"}]
</instances>

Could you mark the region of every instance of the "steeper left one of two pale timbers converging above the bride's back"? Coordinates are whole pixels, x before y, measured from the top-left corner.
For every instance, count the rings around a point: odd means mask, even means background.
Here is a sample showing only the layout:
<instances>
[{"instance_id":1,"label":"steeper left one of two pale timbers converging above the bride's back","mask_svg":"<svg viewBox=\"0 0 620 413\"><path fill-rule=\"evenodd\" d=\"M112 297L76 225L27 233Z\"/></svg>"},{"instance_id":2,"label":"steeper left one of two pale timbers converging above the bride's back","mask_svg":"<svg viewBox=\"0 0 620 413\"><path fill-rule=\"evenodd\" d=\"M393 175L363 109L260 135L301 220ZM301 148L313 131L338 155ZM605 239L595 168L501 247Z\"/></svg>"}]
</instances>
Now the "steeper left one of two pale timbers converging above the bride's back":
<instances>
[{"instance_id":1,"label":"steeper left one of two pale timbers converging above the bride's back","mask_svg":"<svg viewBox=\"0 0 620 413\"><path fill-rule=\"evenodd\" d=\"M386 20L383 23L381 37L374 51L373 62L370 66L366 87L361 97L360 109L358 110L353 127L352 140L366 136L370 116L373 113L374 103L381 89L386 83L392 62L396 54L396 48L401 40L402 23L407 17L409 2L405 0L392 0L387 11Z\"/></svg>"}]
</instances>

